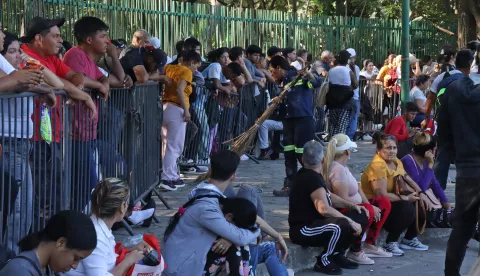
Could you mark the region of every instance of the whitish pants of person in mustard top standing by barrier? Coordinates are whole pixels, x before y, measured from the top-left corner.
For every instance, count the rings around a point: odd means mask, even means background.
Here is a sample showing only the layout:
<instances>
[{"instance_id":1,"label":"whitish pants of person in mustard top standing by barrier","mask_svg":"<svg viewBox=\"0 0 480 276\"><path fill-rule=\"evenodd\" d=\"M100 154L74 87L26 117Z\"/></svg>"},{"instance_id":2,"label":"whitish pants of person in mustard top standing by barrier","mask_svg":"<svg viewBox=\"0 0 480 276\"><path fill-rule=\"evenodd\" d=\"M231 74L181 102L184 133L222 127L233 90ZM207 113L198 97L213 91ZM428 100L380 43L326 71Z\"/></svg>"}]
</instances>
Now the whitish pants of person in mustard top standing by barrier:
<instances>
[{"instance_id":1,"label":"whitish pants of person in mustard top standing by barrier","mask_svg":"<svg viewBox=\"0 0 480 276\"><path fill-rule=\"evenodd\" d=\"M162 180L180 178L177 159L182 155L187 123L183 120L183 109L166 103L163 105L162 122Z\"/></svg>"}]
</instances>

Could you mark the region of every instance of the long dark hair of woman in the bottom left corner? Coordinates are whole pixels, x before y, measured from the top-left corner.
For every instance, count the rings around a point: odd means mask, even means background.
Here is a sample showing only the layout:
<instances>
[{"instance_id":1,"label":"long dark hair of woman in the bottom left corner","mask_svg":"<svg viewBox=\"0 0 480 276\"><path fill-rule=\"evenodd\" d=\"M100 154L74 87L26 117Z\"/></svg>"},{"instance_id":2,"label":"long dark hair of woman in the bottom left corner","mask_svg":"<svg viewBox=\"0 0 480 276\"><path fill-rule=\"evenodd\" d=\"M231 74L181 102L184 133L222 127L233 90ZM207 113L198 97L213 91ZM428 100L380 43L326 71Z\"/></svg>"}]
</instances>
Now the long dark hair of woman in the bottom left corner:
<instances>
[{"instance_id":1,"label":"long dark hair of woman in the bottom left corner","mask_svg":"<svg viewBox=\"0 0 480 276\"><path fill-rule=\"evenodd\" d=\"M56 242L67 239L67 248L75 250L93 250L97 247L97 233L92 220L85 214L65 210L55 214L41 231L24 237L19 243L20 251L37 248L41 242Z\"/></svg>"}]
</instances>

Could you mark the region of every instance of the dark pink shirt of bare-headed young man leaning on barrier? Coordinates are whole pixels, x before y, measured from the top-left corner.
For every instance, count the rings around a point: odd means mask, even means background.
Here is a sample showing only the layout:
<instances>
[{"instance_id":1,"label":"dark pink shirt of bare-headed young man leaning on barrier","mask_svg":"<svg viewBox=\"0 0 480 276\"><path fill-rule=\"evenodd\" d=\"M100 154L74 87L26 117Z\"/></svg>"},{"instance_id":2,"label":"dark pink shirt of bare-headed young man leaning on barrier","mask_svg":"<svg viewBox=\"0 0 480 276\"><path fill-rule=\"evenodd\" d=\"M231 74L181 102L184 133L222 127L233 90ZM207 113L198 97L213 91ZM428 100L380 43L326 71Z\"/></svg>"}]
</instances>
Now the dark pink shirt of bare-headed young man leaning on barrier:
<instances>
[{"instance_id":1,"label":"dark pink shirt of bare-headed young man leaning on barrier","mask_svg":"<svg viewBox=\"0 0 480 276\"><path fill-rule=\"evenodd\" d=\"M83 73L85 76L93 80L99 80L104 76L98 69L97 64L87 55L87 53L76 46L65 54L63 57L63 63L68 65L73 71ZM95 99L94 102L97 105L98 112L98 102ZM87 116L87 113L85 113L83 104L77 103L74 110L72 138L77 141L90 141L97 139L98 117L95 121L92 121L92 119Z\"/></svg>"}]
</instances>

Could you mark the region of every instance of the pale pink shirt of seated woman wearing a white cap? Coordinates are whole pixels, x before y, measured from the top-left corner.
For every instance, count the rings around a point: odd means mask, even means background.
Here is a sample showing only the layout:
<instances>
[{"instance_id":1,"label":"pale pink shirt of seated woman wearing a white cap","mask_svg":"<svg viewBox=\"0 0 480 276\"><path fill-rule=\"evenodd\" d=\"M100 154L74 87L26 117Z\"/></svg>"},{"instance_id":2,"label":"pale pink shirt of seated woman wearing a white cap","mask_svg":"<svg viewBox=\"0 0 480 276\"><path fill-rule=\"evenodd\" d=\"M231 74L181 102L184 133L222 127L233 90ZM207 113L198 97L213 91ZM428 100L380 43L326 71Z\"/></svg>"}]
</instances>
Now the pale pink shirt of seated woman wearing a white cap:
<instances>
[{"instance_id":1,"label":"pale pink shirt of seated woman wearing a white cap","mask_svg":"<svg viewBox=\"0 0 480 276\"><path fill-rule=\"evenodd\" d=\"M359 193L360 187L347 166L344 166L337 161L333 161L330 166L327 185L328 189L333 193L335 193L335 189L338 189L339 186L346 185L348 189L348 198L344 199L355 202L356 204L362 203L362 196L360 196Z\"/></svg>"}]
</instances>

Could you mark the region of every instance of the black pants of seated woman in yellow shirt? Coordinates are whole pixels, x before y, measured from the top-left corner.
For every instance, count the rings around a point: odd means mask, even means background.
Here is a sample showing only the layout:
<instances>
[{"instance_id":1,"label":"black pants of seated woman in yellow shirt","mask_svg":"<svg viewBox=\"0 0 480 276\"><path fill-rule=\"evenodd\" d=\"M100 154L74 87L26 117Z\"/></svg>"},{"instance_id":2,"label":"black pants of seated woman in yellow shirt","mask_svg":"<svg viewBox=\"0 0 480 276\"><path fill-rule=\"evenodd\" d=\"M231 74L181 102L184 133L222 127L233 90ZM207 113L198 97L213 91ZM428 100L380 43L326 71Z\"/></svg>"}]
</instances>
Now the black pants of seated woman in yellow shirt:
<instances>
[{"instance_id":1,"label":"black pants of seated woman in yellow shirt","mask_svg":"<svg viewBox=\"0 0 480 276\"><path fill-rule=\"evenodd\" d=\"M392 210L383 228L388 231L386 243L398 242L400 235L405 230L407 230L405 239L411 240L417 237L415 205L404 200L392 202Z\"/></svg>"}]
</instances>

